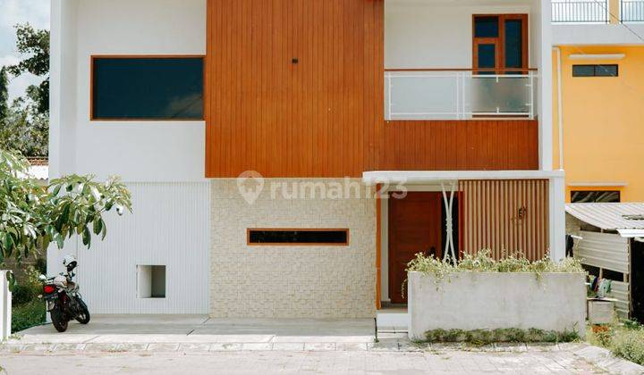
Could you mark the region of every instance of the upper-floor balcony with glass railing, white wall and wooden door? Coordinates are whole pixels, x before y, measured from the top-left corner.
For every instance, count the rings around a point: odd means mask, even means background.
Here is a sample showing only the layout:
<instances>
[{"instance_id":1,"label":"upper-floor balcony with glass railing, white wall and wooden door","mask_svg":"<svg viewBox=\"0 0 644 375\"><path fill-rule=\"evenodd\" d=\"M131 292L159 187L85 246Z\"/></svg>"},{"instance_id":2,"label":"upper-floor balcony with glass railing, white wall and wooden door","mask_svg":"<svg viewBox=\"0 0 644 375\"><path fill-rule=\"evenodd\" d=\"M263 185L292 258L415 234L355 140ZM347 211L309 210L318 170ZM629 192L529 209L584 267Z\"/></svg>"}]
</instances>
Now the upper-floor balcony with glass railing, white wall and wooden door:
<instances>
[{"instance_id":1,"label":"upper-floor balcony with glass railing, white wall and wooden door","mask_svg":"<svg viewBox=\"0 0 644 375\"><path fill-rule=\"evenodd\" d=\"M542 6L386 0L386 121L536 120Z\"/></svg>"}]
</instances>

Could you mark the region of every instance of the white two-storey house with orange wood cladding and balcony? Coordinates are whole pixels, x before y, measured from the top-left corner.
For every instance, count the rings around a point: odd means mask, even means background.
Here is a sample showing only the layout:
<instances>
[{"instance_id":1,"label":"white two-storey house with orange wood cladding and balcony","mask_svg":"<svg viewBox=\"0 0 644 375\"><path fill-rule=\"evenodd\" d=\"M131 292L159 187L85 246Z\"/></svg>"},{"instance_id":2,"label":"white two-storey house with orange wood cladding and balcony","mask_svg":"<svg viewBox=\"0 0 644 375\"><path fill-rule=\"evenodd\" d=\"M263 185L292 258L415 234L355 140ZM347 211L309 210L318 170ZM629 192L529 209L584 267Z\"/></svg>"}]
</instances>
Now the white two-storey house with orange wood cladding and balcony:
<instances>
[{"instance_id":1,"label":"white two-storey house with orange wood cladding and balcony","mask_svg":"<svg viewBox=\"0 0 644 375\"><path fill-rule=\"evenodd\" d=\"M51 174L121 175L134 212L49 270L78 254L93 312L373 317L419 252L561 259L549 14L53 0Z\"/></svg>"}]
</instances>

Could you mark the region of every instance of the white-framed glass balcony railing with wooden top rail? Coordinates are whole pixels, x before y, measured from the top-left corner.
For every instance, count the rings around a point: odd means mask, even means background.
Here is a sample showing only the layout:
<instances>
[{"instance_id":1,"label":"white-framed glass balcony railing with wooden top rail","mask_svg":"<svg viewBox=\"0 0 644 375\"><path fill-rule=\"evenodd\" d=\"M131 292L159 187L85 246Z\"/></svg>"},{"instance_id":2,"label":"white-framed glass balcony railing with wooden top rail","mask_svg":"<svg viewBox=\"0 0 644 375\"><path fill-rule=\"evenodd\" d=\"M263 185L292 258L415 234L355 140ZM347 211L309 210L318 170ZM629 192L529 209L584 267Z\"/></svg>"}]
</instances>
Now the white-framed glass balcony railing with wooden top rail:
<instances>
[{"instance_id":1,"label":"white-framed glass balcony railing with wooden top rail","mask_svg":"<svg viewBox=\"0 0 644 375\"><path fill-rule=\"evenodd\" d=\"M386 120L535 117L534 71L386 71Z\"/></svg>"}]
</instances>

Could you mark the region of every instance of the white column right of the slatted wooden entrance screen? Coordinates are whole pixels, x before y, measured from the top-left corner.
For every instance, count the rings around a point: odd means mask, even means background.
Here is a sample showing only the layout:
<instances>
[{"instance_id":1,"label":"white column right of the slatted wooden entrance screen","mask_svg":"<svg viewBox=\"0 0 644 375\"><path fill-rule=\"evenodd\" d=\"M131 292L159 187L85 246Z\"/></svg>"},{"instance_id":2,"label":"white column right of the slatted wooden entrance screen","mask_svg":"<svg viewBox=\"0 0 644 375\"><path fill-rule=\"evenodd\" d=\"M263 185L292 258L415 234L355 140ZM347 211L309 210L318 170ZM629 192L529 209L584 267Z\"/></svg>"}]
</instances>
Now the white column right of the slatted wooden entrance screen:
<instances>
[{"instance_id":1,"label":"white column right of the slatted wooden entrance screen","mask_svg":"<svg viewBox=\"0 0 644 375\"><path fill-rule=\"evenodd\" d=\"M559 262L565 257L565 187L564 177L549 179L550 257Z\"/></svg>"}]
</instances>

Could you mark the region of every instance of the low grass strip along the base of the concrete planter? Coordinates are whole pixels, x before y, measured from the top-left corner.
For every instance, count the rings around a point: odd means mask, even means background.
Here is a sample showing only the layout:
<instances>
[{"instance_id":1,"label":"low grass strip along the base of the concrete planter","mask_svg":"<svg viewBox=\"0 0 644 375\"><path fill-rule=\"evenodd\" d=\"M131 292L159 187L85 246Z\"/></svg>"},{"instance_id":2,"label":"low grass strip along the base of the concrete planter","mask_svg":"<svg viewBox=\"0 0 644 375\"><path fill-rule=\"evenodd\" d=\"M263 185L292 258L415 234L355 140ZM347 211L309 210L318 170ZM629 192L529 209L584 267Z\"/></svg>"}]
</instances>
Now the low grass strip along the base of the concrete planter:
<instances>
[{"instance_id":1,"label":"low grass strip along the base of the concrete planter","mask_svg":"<svg viewBox=\"0 0 644 375\"><path fill-rule=\"evenodd\" d=\"M544 329L432 329L425 332L428 343L469 343L483 346L492 343L562 343L579 340L576 331L557 332Z\"/></svg>"}]
</instances>

